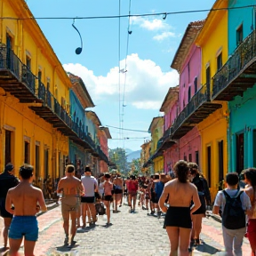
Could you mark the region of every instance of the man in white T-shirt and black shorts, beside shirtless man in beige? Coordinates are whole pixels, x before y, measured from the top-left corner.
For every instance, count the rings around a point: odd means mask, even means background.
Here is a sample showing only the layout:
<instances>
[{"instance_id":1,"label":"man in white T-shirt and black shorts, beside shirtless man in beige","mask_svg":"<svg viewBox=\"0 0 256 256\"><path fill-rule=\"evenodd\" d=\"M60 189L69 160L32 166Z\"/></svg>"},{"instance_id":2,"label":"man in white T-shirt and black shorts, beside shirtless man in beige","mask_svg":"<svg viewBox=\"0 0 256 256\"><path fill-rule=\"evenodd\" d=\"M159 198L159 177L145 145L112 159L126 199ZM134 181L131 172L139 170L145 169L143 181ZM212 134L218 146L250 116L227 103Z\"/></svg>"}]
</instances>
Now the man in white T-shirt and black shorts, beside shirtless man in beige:
<instances>
[{"instance_id":1,"label":"man in white T-shirt and black shorts, beside shirtless man in beige","mask_svg":"<svg viewBox=\"0 0 256 256\"><path fill-rule=\"evenodd\" d=\"M95 191L98 191L98 182L92 176L90 166L87 165L84 171L85 171L84 177L82 177L81 179L84 187L84 195L81 196L82 219L83 219L82 228L86 227L86 212L88 212L89 224L91 226L95 225L95 222L97 221L94 201L95 201ZM92 218L92 221L91 221L91 218Z\"/></svg>"}]
</instances>

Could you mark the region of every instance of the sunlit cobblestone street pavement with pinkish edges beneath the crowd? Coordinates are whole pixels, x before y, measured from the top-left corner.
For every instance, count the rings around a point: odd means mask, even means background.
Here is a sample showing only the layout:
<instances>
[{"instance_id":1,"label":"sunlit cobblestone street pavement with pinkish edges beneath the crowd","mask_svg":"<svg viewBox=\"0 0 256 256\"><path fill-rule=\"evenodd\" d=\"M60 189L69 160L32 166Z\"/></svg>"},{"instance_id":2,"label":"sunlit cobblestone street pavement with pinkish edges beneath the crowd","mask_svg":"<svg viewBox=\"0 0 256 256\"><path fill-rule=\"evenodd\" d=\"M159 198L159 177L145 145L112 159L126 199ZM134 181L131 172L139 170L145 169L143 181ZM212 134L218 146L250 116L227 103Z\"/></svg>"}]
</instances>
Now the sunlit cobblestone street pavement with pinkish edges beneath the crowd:
<instances>
[{"instance_id":1,"label":"sunlit cobblestone street pavement with pinkish edges beneath the crowd","mask_svg":"<svg viewBox=\"0 0 256 256\"><path fill-rule=\"evenodd\" d=\"M60 206L40 215L39 239L36 242L35 255L58 256L167 256L170 252L169 240L163 228L164 218L148 216L147 211L137 209L129 213L129 207L123 205L120 212L112 213L112 226L104 227L106 219L100 216L95 228L78 228L76 246L63 246L64 232L60 216ZM3 228L3 220L0 221ZM224 255L220 222L204 218L203 244L197 246L191 255ZM1 237L1 244L3 237ZM243 255L250 255L250 245L244 238ZM23 248L20 248L23 255Z\"/></svg>"}]
</instances>

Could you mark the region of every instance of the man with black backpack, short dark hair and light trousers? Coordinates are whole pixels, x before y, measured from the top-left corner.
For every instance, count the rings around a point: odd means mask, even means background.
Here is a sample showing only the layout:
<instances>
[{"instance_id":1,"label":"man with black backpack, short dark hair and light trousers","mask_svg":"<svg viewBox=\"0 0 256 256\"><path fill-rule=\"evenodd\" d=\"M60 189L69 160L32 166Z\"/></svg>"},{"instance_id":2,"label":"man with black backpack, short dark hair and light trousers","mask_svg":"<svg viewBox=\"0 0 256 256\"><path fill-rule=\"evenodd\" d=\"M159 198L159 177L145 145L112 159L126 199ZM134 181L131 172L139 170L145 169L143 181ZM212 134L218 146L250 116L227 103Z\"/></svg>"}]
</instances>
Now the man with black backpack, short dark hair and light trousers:
<instances>
[{"instance_id":1,"label":"man with black backpack, short dark hair and light trousers","mask_svg":"<svg viewBox=\"0 0 256 256\"><path fill-rule=\"evenodd\" d=\"M221 210L222 235L228 256L242 256L242 244L246 231L244 212L251 209L249 196L237 189L238 181L236 172L227 174L228 188L218 192L212 209L214 214L219 214Z\"/></svg>"}]
</instances>

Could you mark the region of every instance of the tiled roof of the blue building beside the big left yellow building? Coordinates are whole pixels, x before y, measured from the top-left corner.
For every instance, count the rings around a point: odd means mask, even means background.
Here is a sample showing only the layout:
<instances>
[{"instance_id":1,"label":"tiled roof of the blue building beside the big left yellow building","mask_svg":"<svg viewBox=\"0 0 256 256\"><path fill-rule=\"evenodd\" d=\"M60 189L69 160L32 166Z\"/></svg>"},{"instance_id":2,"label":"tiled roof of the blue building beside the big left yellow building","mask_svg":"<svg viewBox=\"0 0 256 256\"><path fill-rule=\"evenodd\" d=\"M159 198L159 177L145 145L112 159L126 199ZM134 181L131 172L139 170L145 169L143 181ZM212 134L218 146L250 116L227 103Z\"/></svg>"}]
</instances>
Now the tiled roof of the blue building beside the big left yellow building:
<instances>
[{"instance_id":1,"label":"tiled roof of the blue building beside the big left yellow building","mask_svg":"<svg viewBox=\"0 0 256 256\"><path fill-rule=\"evenodd\" d=\"M95 107L94 103L92 102L92 98L87 91L84 81L81 77L75 76L74 74L67 72L68 77L72 83L72 89L76 93L78 100L80 100L83 108L91 108Z\"/></svg>"}]
</instances>

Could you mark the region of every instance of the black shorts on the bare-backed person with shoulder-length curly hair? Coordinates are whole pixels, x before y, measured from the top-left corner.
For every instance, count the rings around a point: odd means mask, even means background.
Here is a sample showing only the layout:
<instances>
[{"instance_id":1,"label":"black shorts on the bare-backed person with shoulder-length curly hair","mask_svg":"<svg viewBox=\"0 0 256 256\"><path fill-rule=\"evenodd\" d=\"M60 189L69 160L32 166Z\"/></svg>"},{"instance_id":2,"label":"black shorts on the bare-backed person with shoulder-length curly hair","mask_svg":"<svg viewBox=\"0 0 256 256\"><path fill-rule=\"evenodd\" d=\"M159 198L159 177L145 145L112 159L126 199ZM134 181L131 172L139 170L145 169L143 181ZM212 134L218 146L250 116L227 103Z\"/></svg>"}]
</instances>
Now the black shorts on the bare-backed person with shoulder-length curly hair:
<instances>
[{"instance_id":1,"label":"black shorts on the bare-backed person with shoulder-length curly hair","mask_svg":"<svg viewBox=\"0 0 256 256\"><path fill-rule=\"evenodd\" d=\"M170 206L164 219L165 227L192 228L190 208Z\"/></svg>"}]
</instances>

